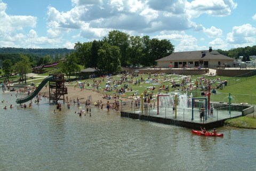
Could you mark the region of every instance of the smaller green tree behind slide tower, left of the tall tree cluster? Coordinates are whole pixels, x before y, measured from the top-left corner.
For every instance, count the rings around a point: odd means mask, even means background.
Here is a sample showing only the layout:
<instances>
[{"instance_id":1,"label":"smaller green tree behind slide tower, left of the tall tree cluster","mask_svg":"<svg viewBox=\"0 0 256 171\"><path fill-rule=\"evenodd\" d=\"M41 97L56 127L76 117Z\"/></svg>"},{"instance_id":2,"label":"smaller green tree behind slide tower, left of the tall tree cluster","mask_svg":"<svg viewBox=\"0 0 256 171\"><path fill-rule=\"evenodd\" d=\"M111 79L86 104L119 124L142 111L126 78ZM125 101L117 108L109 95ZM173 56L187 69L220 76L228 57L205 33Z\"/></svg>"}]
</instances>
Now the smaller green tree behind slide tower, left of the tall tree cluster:
<instances>
[{"instance_id":1,"label":"smaller green tree behind slide tower, left of the tall tree cluster","mask_svg":"<svg viewBox=\"0 0 256 171\"><path fill-rule=\"evenodd\" d=\"M71 53L66 56L66 59L59 63L60 70L66 74L68 79L70 79L70 75L72 72L79 71L79 65L77 64L78 59L75 53Z\"/></svg>"}]
</instances>

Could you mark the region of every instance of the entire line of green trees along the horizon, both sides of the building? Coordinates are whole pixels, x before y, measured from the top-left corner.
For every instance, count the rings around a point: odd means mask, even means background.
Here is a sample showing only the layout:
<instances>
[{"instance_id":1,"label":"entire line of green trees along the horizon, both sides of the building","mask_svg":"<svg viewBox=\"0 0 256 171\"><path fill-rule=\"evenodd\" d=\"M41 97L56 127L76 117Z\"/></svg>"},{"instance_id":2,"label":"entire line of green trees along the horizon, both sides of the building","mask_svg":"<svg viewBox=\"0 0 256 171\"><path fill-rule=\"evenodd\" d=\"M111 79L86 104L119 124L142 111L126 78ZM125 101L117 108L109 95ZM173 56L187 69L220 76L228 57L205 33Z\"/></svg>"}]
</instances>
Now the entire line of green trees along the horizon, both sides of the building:
<instances>
[{"instance_id":1,"label":"entire line of green trees along the horizon, both sides of the building","mask_svg":"<svg viewBox=\"0 0 256 171\"><path fill-rule=\"evenodd\" d=\"M256 46L217 51L234 59L244 56L243 61L250 61L249 56L256 54ZM2 69L6 76L18 72L23 77L33 67L57 61L61 71L70 76L72 72L79 71L79 65L84 68L97 68L103 74L122 71L122 67L150 67L156 64L156 60L173 52L174 45L170 40L132 36L113 30L101 40L77 42L73 50L2 47L0 60L3 61Z\"/></svg>"}]
</instances>

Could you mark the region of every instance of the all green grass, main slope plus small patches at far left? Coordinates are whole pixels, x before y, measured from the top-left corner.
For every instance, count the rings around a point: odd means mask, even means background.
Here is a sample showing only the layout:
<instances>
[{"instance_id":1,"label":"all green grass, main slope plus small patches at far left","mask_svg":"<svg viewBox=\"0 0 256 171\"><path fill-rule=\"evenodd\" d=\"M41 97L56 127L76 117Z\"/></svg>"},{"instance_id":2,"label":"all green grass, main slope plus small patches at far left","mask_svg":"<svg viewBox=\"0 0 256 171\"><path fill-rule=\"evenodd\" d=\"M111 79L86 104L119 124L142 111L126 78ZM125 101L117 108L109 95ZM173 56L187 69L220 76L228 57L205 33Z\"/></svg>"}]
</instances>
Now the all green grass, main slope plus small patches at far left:
<instances>
[{"instance_id":1,"label":"all green grass, main slope plus small patches at far left","mask_svg":"<svg viewBox=\"0 0 256 171\"><path fill-rule=\"evenodd\" d=\"M81 69L83 69L83 66L80 66ZM59 73L60 69L57 67L50 67L50 68L45 68L47 71L51 71L51 74L54 73ZM38 75L38 76L49 76L49 72L46 72L44 74ZM75 77L76 75L73 74L73 77ZM166 87L167 85L169 86L169 92L171 93L185 93L182 91L175 91L174 89L171 88L171 83L170 79L174 79L177 83L181 83L182 82L182 78L184 78L185 76L183 75L158 75L157 77L154 77L154 75L151 75L151 78L157 79L158 82L156 83L156 80L148 80L148 75L147 74L143 74L143 75L139 75L139 77L135 77L133 79L131 79L131 76L127 77L127 80L132 80L133 82L135 82L135 80L138 79L143 79L143 82L137 85L134 85L134 83L123 83L122 85L117 85L117 88L121 88L123 87L125 84L128 85L129 88L132 89L132 92L125 92L123 94L119 94L119 96L128 99L132 94L134 94L135 96L139 96L141 93L143 93L144 91L147 91L147 93L153 93L153 96L156 95L158 93L158 88L162 87L163 85ZM188 84L192 84L193 86L195 86L195 81L199 80L200 77L203 77L203 75L193 75L191 76L191 80L192 82L188 82ZM10 77L10 80L17 80L19 77L17 76L12 76ZM30 79L28 78L27 81L27 85L29 85L31 82L34 82L36 85L40 84L42 82L42 80L44 79L44 77L38 79L40 77L36 77L36 79ZM228 86L225 86L223 89L217 89L217 94L212 94L211 95L211 101L215 101L215 102L228 102L228 96L229 93L231 93L231 103L250 103L250 104L256 104L256 91L254 91L254 86L256 83L256 77L221 77L218 76L218 78L220 78L221 80L228 80ZM101 81L101 83L99 84L99 89L98 91L102 94L108 94L108 95L115 95L116 91L110 91L110 92L105 92L103 91L103 89L106 87L106 82L111 82L110 87L114 88L114 85L116 84L116 82L118 80L121 79L121 76L111 76L111 79L107 79L105 78L104 81L103 78L95 78L96 82L97 81ZM217 77L209 77L209 76L205 76L205 79L217 79ZM0 79L0 82L3 82L4 78ZM113 83L114 81L116 81L115 83ZM85 86L85 88L87 89L92 89L94 90L93 87L93 79L85 79L85 80L79 80L79 82L85 82L86 84L89 83L90 86ZM76 82L71 83L71 85L69 86L74 86L76 84ZM215 83L212 85L212 87L217 86L219 83ZM153 86L156 87L156 89L154 91L150 90ZM186 85L186 87L188 87L188 85ZM177 89L182 89L182 87L177 87ZM196 92L196 93L195 93ZM194 97L200 96L201 95L201 88L195 88L193 89L193 95ZM166 91L162 91L162 93L167 93ZM190 94L190 92L188 93ZM118 94L117 94L118 95Z\"/></svg>"}]
</instances>

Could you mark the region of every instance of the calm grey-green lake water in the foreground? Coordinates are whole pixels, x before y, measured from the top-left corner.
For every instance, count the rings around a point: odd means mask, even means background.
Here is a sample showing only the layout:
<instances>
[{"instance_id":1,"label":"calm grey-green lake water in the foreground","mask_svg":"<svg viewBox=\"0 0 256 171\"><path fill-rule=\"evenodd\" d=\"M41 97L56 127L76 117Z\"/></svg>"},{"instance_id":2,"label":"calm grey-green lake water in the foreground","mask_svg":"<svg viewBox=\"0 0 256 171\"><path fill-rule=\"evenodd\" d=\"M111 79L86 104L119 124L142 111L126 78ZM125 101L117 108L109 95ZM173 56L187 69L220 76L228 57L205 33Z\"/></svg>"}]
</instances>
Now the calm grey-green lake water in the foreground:
<instances>
[{"instance_id":1,"label":"calm grey-green lake water in the foreground","mask_svg":"<svg viewBox=\"0 0 256 171\"><path fill-rule=\"evenodd\" d=\"M2 109L14 94L0 93L0 170L256 170L255 129L203 137L94 107L91 117L74 105L53 113L47 99Z\"/></svg>"}]
</instances>

